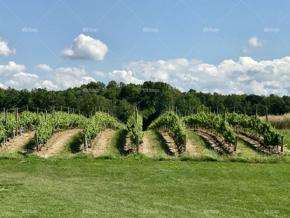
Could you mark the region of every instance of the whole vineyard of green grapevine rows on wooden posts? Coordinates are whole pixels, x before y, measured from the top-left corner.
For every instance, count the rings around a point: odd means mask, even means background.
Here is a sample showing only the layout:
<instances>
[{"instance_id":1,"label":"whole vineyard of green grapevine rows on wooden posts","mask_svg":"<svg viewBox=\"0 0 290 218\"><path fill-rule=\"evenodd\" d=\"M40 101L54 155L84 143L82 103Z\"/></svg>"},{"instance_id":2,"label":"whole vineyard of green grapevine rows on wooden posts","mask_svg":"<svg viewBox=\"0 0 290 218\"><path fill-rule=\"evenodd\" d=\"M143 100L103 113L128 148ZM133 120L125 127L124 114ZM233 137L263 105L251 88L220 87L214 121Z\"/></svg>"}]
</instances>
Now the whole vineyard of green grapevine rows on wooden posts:
<instances>
[{"instance_id":1,"label":"whole vineyard of green grapevine rows on wooden posts","mask_svg":"<svg viewBox=\"0 0 290 218\"><path fill-rule=\"evenodd\" d=\"M15 108L14 112L6 110L5 113L0 113L2 147L9 146L9 141L18 135L21 136L23 132L34 132L31 144L35 144L35 151L39 152L49 141L60 140L56 138L55 133L65 134L66 130L76 129L79 130L79 138L82 141L79 150L87 152L88 148L92 147L94 139L101 137L103 131L111 129L126 131L128 139L124 142L124 146L127 144L130 147L130 151L127 149L128 153L139 152L146 132L143 131L143 117L138 114L137 107L135 107L135 113L128 117L127 124L107 112L107 109L104 112L103 109L100 111L100 107L98 108L98 111L97 107L91 111L89 118L83 116L80 111L78 114L74 111L70 113L69 108L67 111L55 111L53 107L50 111L38 112L37 109L37 112L23 110L20 113L18 113L18 108ZM288 152L288 149L284 148L284 137L271 124L257 115L248 116L235 112L216 114L197 110L196 113L190 114L188 111L187 115L181 116L177 108L176 111L170 111L169 107L169 110L163 110L156 117L148 126L148 130L156 131L161 139L164 138L165 150L170 144L171 147L167 150L171 150L175 155L176 152L181 154L196 150L193 149L196 144L195 140L188 138L188 131L198 135L207 144L209 150L214 150L218 154L238 154L238 140L248 143L250 147L263 154ZM61 134L59 137L62 137ZM8 145L5 144L7 142ZM152 148L148 140L144 146Z\"/></svg>"}]
</instances>

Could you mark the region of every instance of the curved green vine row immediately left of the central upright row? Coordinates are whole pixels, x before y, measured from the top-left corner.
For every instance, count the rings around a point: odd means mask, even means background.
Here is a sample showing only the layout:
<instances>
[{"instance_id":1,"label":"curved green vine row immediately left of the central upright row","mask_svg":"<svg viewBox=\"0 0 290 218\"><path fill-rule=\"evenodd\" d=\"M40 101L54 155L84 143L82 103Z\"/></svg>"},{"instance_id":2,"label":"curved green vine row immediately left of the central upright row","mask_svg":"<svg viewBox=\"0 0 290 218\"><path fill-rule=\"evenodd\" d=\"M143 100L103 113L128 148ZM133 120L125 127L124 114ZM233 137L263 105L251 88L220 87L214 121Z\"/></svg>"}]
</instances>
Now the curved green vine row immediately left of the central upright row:
<instances>
[{"instance_id":1,"label":"curved green vine row immediately left of the central upright row","mask_svg":"<svg viewBox=\"0 0 290 218\"><path fill-rule=\"evenodd\" d=\"M86 127L83 130L83 133L86 136L87 140L94 139L98 132L109 127L115 127L117 129L126 128L123 124L120 124L116 121L114 117L111 117L109 114L98 111L92 119L88 122Z\"/></svg>"}]
</instances>

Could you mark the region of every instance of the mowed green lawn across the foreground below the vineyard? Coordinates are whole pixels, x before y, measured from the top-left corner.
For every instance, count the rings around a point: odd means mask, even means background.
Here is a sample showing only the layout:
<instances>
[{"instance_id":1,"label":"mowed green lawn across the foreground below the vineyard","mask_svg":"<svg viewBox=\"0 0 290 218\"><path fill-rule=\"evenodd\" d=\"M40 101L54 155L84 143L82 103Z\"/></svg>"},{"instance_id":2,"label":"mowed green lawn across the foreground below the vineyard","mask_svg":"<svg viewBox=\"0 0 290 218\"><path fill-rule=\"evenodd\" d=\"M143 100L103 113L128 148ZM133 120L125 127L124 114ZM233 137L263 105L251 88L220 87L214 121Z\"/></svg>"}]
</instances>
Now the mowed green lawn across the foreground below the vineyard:
<instances>
[{"instance_id":1,"label":"mowed green lawn across the foreground below the vineyard","mask_svg":"<svg viewBox=\"0 0 290 218\"><path fill-rule=\"evenodd\" d=\"M0 160L0 217L290 217L288 164Z\"/></svg>"}]
</instances>

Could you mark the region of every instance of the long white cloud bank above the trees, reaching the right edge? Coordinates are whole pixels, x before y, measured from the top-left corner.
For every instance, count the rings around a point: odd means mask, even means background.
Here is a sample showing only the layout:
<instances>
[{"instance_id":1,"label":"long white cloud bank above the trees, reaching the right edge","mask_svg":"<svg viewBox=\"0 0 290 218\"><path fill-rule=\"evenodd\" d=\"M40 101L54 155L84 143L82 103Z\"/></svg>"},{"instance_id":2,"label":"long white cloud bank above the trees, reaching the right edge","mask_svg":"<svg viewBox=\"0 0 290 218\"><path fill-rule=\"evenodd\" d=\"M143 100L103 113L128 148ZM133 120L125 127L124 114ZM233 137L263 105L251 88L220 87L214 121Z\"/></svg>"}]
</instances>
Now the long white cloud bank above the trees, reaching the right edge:
<instances>
[{"instance_id":1,"label":"long white cloud bank above the trees, reaching the right edge","mask_svg":"<svg viewBox=\"0 0 290 218\"><path fill-rule=\"evenodd\" d=\"M188 91L222 94L288 95L290 90L290 57L273 61L255 61L240 57L218 65L198 60L138 61L126 64L127 69L113 71L110 79L140 84L142 81L163 81Z\"/></svg>"}]
</instances>

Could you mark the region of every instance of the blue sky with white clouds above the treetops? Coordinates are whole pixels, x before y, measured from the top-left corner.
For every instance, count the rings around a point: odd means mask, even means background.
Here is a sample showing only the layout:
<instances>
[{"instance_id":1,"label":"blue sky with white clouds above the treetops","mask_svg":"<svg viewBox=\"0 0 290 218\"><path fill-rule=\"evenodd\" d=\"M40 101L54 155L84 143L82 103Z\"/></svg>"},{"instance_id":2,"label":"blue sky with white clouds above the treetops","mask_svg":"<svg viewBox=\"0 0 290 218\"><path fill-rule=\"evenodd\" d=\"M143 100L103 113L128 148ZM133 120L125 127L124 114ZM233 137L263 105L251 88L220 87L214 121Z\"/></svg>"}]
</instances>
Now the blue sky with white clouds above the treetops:
<instances>
[{"instance_id":1,"label":"blue sky with white clouds above the treetops","mask_svg":"<svg viewBox=\"0 0 290 218\"><path fill-rule=\"evenodd\" d=\"M290 2L0 0L0 87L290 93Z\"/></svg>"}]
</instances>

